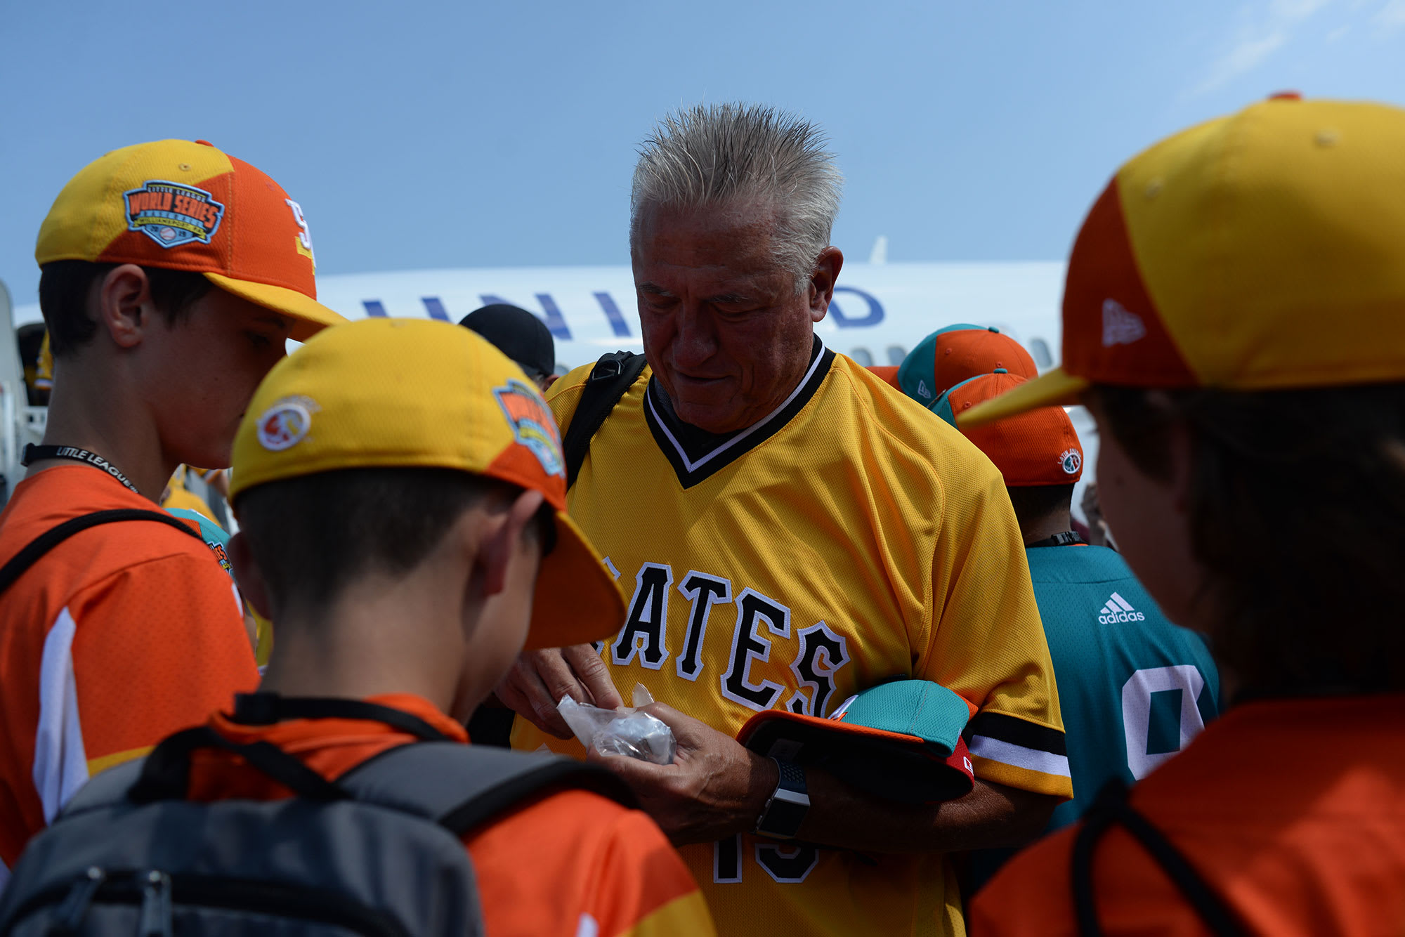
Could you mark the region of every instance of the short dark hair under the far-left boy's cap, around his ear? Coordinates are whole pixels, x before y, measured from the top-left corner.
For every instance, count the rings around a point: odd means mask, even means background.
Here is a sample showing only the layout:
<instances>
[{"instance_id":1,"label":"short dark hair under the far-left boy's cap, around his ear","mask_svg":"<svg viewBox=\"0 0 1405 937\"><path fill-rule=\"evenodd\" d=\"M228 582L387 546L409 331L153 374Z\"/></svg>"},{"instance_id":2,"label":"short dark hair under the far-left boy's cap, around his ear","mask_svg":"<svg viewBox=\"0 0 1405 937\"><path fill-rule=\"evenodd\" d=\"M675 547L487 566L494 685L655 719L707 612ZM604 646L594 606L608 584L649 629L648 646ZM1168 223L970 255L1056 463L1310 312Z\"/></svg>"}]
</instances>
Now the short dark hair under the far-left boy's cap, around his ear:
<instances>
[{"instance_id":1,"label":"short dark hair under the far-left boy's cap, around his ear","mask_svg":"<svg viewBox=\"0 0 1405 937\"><path fill-rule=\"evenodd\" d=\"M87 260L55 260L39 270L39 312L49 329L49 351L63 358L93 340L97 323L87 315L87 296L93 281L121 264L94 264ZM152 302L166 313L166 323L176 325L190 313L214 284L204 274L164 267L142 267L150 285Z\"/></svg>"}]
</instances>

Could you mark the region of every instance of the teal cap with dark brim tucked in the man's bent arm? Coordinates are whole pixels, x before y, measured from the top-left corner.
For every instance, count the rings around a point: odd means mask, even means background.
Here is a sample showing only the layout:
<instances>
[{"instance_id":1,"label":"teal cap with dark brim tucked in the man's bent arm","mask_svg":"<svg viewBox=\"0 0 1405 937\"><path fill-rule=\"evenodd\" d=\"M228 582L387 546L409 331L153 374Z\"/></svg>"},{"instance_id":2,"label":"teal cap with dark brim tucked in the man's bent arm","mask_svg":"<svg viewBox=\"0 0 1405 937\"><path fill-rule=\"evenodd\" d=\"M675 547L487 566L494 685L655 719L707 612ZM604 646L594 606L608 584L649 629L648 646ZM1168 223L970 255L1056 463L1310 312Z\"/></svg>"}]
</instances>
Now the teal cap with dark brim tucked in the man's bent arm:
<instances>
[{"instance_id":1,"label":"teal cap with dark brim tucked in the man's bent arm","mask_svg":"<svg viewBox=\"0 0 1405 937\"><path fill-rule=\"evenodd\" d=\"M736 740L757 754L821 767L875 797L937 804L975 784L961 738L972 712L940 684L892 680L850 697L829 718L757 712Z\"/></svg>"}]
</instances>

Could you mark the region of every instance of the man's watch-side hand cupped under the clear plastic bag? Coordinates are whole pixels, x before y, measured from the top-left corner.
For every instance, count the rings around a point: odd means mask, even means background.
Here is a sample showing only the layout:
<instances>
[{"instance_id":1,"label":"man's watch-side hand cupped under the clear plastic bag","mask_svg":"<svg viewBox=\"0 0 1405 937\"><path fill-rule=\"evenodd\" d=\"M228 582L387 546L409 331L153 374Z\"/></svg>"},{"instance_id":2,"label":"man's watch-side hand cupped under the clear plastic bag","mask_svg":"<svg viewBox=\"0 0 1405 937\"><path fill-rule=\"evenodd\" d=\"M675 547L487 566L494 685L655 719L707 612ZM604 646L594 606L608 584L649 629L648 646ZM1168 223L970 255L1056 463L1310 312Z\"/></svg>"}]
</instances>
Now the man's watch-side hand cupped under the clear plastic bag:
<instances>
[{"instance_id":1,"label":"man's watch-side hand cupped under the clear plastic bag","mask_svg":"<svg viewBox=\"0 0 1405 937\"><path fill-rule=\"evenodd\" d=\"M643 712L673 729L673 764L652 764L590 749L596 764L628 784L639 805L674 846L710 843L750 832L780 780L776 763L673 707L651 702Z\"/></svg>"}]
</instances>

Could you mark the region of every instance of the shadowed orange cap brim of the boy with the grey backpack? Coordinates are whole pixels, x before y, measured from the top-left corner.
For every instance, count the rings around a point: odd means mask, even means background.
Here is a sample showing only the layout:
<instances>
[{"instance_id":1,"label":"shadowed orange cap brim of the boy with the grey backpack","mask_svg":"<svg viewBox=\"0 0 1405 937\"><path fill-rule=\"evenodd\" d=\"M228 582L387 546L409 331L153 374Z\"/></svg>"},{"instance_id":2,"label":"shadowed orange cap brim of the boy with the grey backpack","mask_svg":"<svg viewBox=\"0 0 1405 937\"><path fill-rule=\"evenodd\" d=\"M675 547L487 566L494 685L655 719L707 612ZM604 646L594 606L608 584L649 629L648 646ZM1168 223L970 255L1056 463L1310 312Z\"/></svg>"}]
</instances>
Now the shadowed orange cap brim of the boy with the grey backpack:
<instances>
[{"instance_id":1,"label":"shadowed orange cap brim of the boy with the grey backpack","mask_svg":"<svg viewBox=\"0 0 1405 937\"><path fill-rule=\"evenodd\" d=\"M527 650L613 638L624 625L624 594L594 548L565 511L556 511L556 548L541 562Z\"/></svg>"}]
</instances>

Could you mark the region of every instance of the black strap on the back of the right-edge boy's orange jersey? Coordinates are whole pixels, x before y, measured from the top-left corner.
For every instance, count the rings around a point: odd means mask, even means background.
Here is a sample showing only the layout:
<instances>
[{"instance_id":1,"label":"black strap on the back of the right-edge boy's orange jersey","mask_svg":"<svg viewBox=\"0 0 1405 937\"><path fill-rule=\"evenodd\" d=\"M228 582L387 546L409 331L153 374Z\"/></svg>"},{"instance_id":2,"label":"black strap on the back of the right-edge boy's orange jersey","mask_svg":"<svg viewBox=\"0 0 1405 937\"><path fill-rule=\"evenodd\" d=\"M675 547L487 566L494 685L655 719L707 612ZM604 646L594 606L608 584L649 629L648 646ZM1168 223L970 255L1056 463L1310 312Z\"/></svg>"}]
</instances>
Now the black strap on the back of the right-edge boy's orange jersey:
<instances>
[{"instance_id":1,"label":"black strap on the back of the right-edge boy's orange jersey","mask_svg":"<svg viewBox=\"0 0 1405 937\"><path fill-rule=\"evenodd\" d=\"M1093 893L1093 853L1099 840L1114 825L1124 826L1141 843L1211 934L1239 937L1249 933L1229 905L1196 871L1186 856L1128 802L1127 785L1123 780L1113 778L1099 792L1093 806L1087 809L1083 825L1073 839L1069 878L1073 885L1073 915L1078 920L1079 934L1083 937L1102 937L1103 934L1103 927L1097 922L1097 902Z\"/></svg>"}]
</instances>

